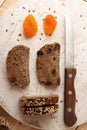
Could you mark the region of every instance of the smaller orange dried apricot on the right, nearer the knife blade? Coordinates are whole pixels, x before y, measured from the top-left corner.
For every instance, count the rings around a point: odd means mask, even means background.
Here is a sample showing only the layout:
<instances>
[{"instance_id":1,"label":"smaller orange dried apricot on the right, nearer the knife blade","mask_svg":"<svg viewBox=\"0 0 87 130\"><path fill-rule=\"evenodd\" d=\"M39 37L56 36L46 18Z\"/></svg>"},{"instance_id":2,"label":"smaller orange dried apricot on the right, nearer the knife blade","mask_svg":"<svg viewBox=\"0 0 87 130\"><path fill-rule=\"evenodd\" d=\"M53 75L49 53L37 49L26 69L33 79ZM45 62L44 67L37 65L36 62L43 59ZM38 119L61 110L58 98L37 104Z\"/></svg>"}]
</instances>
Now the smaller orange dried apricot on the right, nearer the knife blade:
<instances>
[{"instance_id":1,"label":"smaller orange dried apricot on the right, nearer the knife blade","mask_svg":"<svg viewBox=\"0 0 87 130\"><path fill-rule=\"evenodd\" d=\"M44 22L43 22L44 32L47 35L51 35L54 32L56 25L57 25L57 21L55 17L51 14L48 14L45 17Z\"/></svg>"}]
</instances>

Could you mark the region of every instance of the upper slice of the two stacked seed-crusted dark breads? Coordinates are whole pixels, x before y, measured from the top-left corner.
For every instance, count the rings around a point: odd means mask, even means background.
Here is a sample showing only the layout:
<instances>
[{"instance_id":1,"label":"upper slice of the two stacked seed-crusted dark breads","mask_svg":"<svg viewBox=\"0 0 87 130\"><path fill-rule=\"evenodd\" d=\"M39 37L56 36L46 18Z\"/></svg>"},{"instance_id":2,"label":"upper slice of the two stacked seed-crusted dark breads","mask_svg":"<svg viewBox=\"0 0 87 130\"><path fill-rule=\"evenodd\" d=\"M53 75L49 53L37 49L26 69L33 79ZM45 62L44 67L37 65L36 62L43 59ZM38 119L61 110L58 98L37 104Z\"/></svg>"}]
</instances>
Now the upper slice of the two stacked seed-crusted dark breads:
<instances>
[{"instance_id":1,"label":"upper slice of the two stacked seed-crusted dark breads","mask_svg":"<svg viewBox=\"0 0 87 130\"><path fill-rule=\"evenodd\" d=\"M21 107L23 106L46 106L46 105L53 105L55 103L58 103L58 95L52 94L52 95L44 95L44 96L34 96L34 97L21 97L19 99L19 104Z\"/></svg>"}]
</instances>

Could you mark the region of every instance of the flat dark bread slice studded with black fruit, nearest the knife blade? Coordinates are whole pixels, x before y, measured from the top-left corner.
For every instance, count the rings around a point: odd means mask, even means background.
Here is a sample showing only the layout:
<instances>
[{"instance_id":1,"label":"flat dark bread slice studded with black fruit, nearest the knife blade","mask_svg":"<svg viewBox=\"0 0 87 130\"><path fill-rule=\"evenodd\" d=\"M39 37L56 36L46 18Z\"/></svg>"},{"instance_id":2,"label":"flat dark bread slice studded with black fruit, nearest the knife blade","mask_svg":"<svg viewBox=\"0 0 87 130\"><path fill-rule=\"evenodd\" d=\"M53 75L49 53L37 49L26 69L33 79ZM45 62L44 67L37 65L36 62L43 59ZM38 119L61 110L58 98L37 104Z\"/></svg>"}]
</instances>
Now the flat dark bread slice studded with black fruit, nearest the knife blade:
<instances>
[{"instance_id":1,"label":"flat dark bread slice studded with black fruit, nearest the knife blade","mask_svg":"<svg viewBox=\"0 0 87 130\"><path fill-rule=\"evenodd\" d=\"M52 87L60 84L59 57L58 43L46 44L37 52L37 77L41 83Z\"/></svg>"}]
</instances>

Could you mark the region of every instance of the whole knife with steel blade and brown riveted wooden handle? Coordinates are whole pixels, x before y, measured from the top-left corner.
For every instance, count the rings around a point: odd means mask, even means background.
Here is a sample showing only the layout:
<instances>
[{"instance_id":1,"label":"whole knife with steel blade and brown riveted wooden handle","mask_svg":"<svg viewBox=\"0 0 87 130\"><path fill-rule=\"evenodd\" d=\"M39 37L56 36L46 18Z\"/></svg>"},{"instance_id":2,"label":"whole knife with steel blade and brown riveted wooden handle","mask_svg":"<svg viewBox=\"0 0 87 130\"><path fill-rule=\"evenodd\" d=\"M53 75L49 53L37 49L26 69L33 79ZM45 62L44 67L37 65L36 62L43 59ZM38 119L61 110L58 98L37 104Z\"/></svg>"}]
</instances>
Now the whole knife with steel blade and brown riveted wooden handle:
<instances>
[{"instance_id":1,"label":"whole knife with steel blade and brown riveted wooden handle","mask_svg":"<svg viewBox=\"0 0 87 130\"><path fill-rule=\"evenodd\" d=\"M64 86L64 122L67 126L73 126L77 117L75 114L76 94L74 79L74 39L69 16L65 16L66 47L65 47L65 86Z\"/></svg>"}]
</instances>

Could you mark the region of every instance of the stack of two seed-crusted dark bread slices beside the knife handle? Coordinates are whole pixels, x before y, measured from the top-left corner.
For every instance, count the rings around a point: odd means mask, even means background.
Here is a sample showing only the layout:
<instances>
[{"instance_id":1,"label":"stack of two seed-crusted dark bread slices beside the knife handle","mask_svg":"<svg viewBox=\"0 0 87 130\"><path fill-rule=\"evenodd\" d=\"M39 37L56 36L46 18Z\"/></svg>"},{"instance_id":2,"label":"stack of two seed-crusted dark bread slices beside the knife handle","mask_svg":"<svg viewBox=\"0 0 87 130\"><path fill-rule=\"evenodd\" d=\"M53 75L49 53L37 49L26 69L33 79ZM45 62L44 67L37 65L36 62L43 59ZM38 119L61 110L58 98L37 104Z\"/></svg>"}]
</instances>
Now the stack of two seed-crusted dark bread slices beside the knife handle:
<instances>
[{"instance_id":1,"label":"stack of two seed-crusted dark bread slices beside the knife handle","mask_svg":"<svg viewBox=\"0 0 87 130\"><path fill-rule=\"evenodd\" d=\"M21 97L19 105L24 115L52 114L58 110L58 96L44 95L35 97Z\"/></svg>"}]
</instances>

